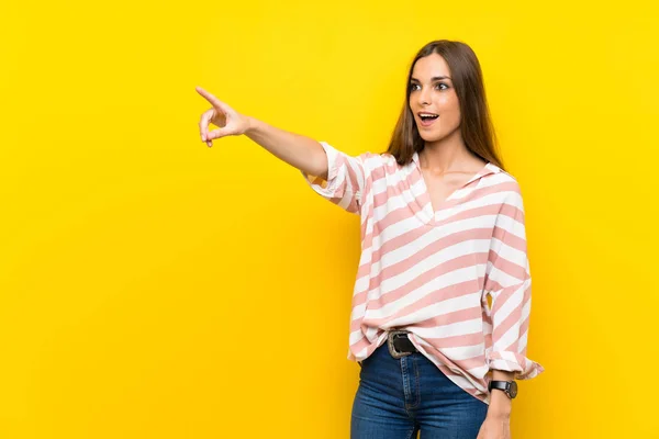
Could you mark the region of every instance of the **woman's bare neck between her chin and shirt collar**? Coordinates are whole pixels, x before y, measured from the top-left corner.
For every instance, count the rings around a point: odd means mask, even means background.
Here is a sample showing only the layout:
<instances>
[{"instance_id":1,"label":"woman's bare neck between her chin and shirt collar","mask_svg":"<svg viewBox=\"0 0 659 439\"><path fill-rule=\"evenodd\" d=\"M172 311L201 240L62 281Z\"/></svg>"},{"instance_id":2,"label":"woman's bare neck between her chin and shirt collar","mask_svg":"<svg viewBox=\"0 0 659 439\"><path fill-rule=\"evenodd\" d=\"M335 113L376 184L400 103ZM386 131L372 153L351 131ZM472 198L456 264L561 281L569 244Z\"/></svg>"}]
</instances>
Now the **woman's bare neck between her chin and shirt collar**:
<instances>
[{"instance_id":1,"label":"woman's bare neck between her chin and shirt collar","mask_svg":"<svg viewBox=\"0 0 659 439\"><path fill-rule=\"evenodd\" d=\"M461 169L473 161L473 155L465 145L460 130L437 142L426 142L418 154L421 167L432 173L445 173Z\"/></svg>"}]
</instances>

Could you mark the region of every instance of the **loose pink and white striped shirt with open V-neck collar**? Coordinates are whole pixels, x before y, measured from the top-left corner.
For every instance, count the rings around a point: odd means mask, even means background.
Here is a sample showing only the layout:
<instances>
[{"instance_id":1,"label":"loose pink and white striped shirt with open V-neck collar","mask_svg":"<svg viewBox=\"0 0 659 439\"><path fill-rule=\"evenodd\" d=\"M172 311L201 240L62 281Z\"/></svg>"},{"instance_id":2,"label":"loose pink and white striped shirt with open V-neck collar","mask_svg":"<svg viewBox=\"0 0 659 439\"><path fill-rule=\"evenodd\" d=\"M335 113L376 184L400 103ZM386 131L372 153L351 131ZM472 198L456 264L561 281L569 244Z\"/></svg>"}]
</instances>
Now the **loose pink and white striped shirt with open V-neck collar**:
<instances>
[{"instance_id":1,"label":"loose pink and white striped shirt with open V-neck collar","mask_svg":"<svg viewBox=\"0 0 659 439\"><path fill-rule=\"evenodd\" d=\"M487 404L490 370L516 380L543 372L526 358L530 273L517 181L488 162L434 211L416 153L400 166L390 154L321 145L327 180L302 172L305 181L361 217L348 359L366 359L388 330L406 329L421 353Z\"/></svg>"}]
</instances>

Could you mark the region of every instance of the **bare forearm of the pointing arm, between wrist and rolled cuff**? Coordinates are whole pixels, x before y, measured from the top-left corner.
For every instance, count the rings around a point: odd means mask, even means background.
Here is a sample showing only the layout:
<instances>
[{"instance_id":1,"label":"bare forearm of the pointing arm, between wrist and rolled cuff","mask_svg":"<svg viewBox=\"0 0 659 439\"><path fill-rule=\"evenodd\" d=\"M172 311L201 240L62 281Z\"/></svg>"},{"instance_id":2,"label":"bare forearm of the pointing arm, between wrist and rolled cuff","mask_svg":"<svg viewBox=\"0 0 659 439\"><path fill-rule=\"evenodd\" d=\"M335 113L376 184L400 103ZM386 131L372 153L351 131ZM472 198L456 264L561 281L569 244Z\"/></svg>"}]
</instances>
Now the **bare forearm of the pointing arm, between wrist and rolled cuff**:
<instances>
[{"instance_id":1,"label":"bare forearm of the pointing arm, between wrist and rolled cuff","mask_svg":"<svg viewBox=\"0 0 659 439\"><path fill-rule=\"evenodd\" d=\"M254 117L248 117L245 135L279 159L311 173L327 179L327 157L315 139L290 133Z\"/></svg>"}]
</instances>

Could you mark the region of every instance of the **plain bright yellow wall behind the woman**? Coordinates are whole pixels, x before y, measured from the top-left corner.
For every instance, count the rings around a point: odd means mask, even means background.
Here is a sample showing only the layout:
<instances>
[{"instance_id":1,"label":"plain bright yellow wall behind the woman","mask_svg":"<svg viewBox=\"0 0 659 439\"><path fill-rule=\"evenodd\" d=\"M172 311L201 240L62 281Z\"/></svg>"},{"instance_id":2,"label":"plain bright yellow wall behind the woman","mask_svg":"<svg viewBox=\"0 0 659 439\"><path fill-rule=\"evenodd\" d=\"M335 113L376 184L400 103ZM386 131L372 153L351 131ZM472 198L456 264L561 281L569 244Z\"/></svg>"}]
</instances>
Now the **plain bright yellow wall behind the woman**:
<instances>
[{"instance_id":1,"label":"plain bright yellow wall behind the woman","mask_svg":"<svg viewBox=\"0 0 659 439\"><path fill-rule=\"evenodd\" d=\"M208 148L194 87L382 151L436 38L477 52L525 199L546 372L512 437L659 437L651 3L3 4L0 438L347 438L358 217Z\"/></svg>"}]
</instances>

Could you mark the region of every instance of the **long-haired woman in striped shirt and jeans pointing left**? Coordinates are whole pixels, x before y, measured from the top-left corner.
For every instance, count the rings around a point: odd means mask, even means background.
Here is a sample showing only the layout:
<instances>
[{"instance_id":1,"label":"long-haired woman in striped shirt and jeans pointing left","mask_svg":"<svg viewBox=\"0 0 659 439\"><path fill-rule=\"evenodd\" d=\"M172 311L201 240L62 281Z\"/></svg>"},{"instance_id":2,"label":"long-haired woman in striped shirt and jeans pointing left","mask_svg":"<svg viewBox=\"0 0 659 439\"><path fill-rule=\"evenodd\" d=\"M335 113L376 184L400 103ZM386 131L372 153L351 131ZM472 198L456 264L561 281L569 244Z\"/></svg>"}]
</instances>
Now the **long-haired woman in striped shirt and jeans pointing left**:
<instances>
[{"instance_id":1,"label":"long-haired woman in striped shirt and jeans pointing left","mask_svg":"<svg viewBox=\"0 0 659 439\"><path fill-rule=\"evenodd\" d=\"M349 156L238 114L205 90L202 142L245 134L361 217L348 359L354 439L510 438L530 274L517 181L494 148L480 64L461 42L414 57L386 153ZM209 124L220 128L209 131Z\"/></svg>"}]
</instances>

